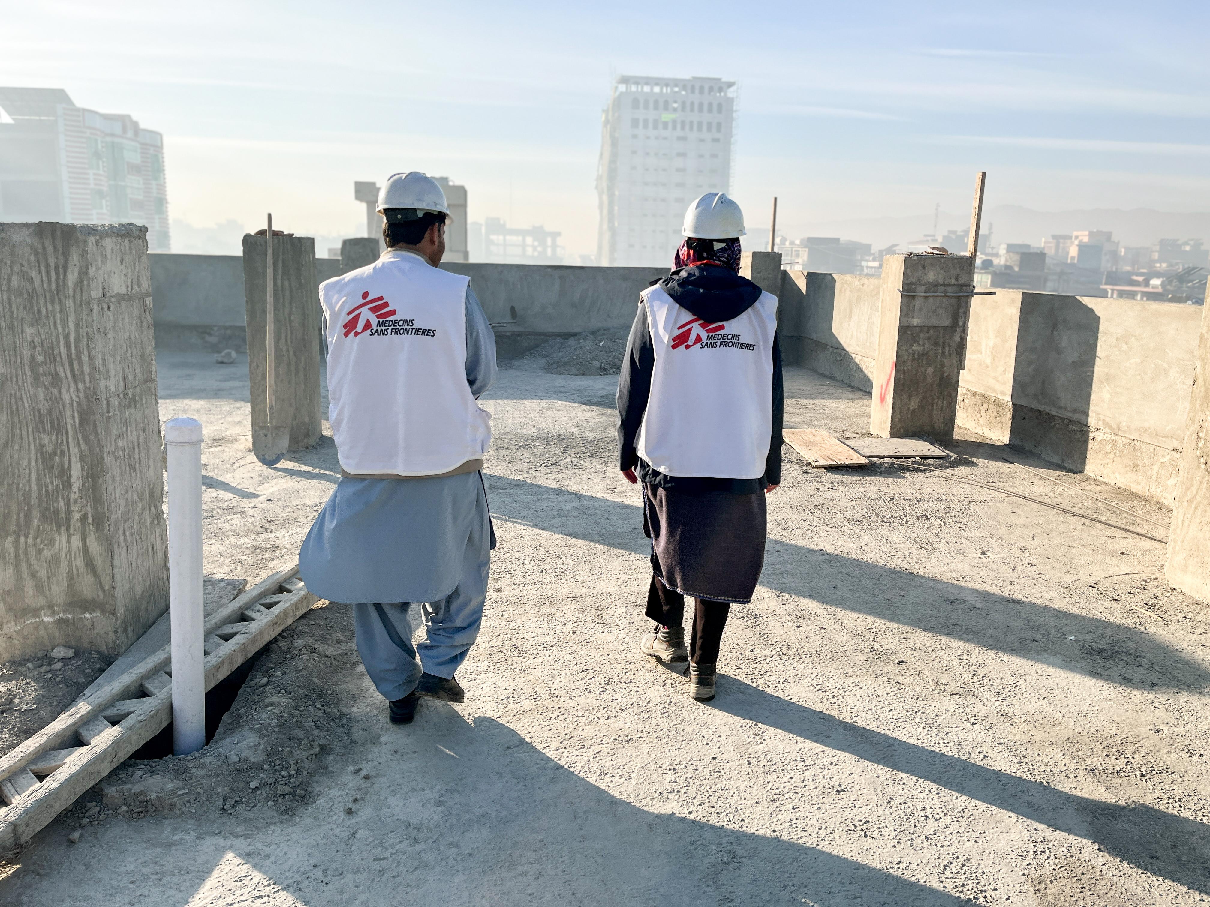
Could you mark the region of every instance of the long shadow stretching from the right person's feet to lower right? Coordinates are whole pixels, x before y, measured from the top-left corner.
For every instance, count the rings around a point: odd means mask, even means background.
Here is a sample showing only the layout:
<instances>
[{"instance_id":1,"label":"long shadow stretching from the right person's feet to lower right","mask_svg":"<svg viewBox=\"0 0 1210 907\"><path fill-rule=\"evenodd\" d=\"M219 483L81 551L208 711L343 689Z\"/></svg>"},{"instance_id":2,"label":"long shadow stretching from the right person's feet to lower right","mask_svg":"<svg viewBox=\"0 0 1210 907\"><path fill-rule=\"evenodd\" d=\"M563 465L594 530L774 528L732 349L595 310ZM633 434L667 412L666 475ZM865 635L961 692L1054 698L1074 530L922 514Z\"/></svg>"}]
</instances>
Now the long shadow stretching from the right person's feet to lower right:
<instances>
[{"instance_id":1,"label":"long shadow stretching from the right person's feet to lower right","mask_svg":"<svg viewBox=\"0 0 1210 907\"><path fill-rule=\"evenodd\" d=\"M1081 797L906 743L728 677L715 707L1101 845L1145 872L1210 892L1210 826L1145 803Z\"/></svg>"}]
</instances>

